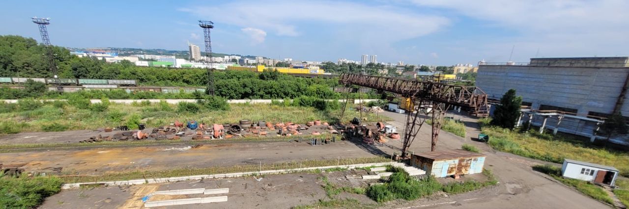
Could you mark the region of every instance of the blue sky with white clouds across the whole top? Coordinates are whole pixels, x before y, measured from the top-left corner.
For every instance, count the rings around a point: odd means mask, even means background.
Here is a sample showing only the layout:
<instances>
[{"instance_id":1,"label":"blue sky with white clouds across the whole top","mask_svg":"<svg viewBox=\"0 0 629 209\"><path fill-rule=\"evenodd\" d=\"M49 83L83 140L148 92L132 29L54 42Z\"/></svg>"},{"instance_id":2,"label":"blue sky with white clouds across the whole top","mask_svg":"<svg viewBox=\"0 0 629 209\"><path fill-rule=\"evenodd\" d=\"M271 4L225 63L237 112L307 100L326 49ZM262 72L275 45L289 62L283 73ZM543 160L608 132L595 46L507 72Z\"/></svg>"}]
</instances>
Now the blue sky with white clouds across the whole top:
<instances>
[{"instance_id":1,"label":"blue sky with white clouds across the whole top","mask_svg":"<svg viewBox=\"0 0 629 209\"><path fill-rule=\"evenodd\" d=\"M625 0L5 1L0 35L40 40L32 16L50 17L53 45L213 51L295 60L454 65L532 57L627 56ZM201 47L203 48L203 46Z\"/></svg>"}]
</instances>

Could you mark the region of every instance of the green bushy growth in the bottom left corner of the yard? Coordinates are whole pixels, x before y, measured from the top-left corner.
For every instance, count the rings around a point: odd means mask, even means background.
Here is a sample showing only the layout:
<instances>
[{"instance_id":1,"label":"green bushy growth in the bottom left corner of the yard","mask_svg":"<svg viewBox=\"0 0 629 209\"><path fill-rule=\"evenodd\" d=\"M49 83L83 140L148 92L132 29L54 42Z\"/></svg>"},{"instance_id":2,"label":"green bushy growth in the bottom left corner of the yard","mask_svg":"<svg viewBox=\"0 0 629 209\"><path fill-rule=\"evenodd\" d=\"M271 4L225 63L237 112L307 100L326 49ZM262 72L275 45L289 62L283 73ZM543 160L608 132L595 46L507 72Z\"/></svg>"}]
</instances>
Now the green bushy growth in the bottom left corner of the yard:
<instances>
[{"instance_id":1,"label":"green bushy growth in the bottom left corner of the yard","mask_svg":"<svg viewBox=\"0 0 629 209\"><path fill-rule=\"evenodd\" d=\"M26 175L14 178L0 174L1 208L35 208L44 199L61 190L62 181L57 177Z\"/></svg>"}]
</instances>

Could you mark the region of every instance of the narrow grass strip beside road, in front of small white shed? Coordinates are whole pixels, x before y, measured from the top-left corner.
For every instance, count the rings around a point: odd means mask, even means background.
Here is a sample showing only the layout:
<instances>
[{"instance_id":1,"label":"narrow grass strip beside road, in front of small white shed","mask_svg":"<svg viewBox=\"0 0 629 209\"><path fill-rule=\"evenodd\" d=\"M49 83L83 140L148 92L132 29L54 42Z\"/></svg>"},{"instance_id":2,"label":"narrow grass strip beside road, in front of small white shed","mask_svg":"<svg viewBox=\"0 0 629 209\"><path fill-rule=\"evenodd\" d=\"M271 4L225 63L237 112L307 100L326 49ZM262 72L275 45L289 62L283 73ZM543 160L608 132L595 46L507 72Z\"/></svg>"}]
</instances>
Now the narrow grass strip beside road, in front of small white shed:
<instances>
[{"instance_id":1,"label":"narrow grass strip beside road, in front of small white shed","mask_svg":"<svg viewBox=\"0 0 629 209\"><path fill-rule=\"evenodd\" d=\"M606 203L613 204L613 200L611 200L611 197L607 195L607 193L603 190L603 188L601 188L600 186L593 185L587 181L562 178L561 168L557 166L543 164L543 165L535 165L533 166L533 169L535 169L536 171L540 171L542 173L548 174L548 176L555 178L555 180L561 181L562 183L564 183L564 185L572 186L573 188L576 188L577 191L580 191L584 195L590 196L591 198L594 198L595 200L604 201Z\"/></svg>"}]
</instances>

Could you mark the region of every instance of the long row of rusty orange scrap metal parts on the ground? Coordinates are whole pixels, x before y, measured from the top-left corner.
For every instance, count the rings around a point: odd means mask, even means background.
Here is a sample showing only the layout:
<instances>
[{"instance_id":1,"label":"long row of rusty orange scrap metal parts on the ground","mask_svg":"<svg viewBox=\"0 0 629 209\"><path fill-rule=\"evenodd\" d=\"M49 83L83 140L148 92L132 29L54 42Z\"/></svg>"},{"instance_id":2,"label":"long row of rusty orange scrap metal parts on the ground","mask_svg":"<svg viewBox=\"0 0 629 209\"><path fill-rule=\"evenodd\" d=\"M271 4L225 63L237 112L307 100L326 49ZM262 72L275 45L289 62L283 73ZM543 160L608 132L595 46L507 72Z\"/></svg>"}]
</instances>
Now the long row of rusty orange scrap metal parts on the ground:
<instances>
[{"instance_id":1,"label":"long row of rusty orange scrap metal parts on the ground","mask_svg":"<svg viewBox=\"0 0 629 209\"><path fill-rule=\"evenodd\" d=\"M236 124L198 124L196 121L179 122L175 121L169 126L161 126L153 129L143 129L140 124L140 130L129 131L126 126L116 128L106 127L103 131L105 134L92 136L89 139L80 141L84 142L102 142L102 141L137 141L137 140L177 140L177 139L231 139L239 137L267 137L278 136L286 137L293 135L312 135L319 136L321 134L339 134L335 127L330 126L327 122L309 121L306 124L294 124L292 122L272 122L257 121L253 123L250 120L242 120ZM343 130L342 130L343 131Z\"/></svg>"}]
</instances>

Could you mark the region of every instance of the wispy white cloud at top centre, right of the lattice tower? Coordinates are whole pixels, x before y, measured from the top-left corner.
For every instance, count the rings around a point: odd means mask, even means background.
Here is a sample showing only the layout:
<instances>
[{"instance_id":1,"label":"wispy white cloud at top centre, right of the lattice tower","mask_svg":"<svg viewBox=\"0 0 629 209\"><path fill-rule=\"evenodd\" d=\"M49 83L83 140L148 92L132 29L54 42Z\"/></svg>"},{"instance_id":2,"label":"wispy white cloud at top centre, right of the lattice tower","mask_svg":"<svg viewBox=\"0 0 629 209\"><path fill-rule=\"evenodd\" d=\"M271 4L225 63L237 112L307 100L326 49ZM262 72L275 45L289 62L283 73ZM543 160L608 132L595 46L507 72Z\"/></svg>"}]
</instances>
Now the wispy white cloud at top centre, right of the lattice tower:
<instances>
[{"instance_id":1,"label":"wispy white cloud at top centre, right of the lattice tower","mask_svg":"<svg viewBox=\"0 0 629 209\"><path fill-rule=\"evenodd\" d=\"M337 1L238 1L179 10L214 23L255 27L279 36L299 36L306 27L323 24L321 30L333 31L336 39L372 46L428 35L449 23L446 18L404 8Z\"/></svg>"}]
</instances>

